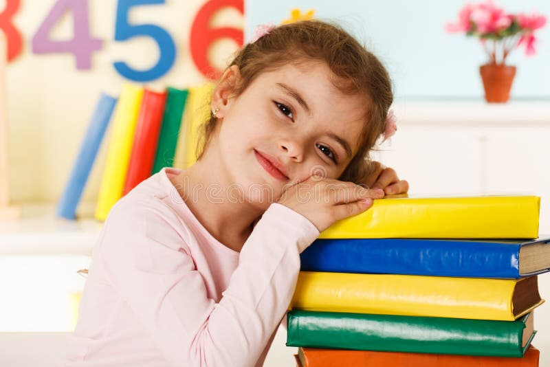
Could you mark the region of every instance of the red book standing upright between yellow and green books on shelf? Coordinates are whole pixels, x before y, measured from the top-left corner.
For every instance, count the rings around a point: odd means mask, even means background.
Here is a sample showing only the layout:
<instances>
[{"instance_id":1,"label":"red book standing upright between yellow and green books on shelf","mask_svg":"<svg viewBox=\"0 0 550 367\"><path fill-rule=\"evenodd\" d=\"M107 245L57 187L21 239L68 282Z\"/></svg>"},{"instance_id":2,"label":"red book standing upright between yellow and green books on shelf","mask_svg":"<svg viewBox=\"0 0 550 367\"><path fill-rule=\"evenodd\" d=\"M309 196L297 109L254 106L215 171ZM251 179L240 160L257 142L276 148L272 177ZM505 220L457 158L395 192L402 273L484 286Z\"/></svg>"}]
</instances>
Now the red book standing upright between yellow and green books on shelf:
<instances>
[{"instance_id":1,"label":"red book standing upright between yellow and green books on shelf","mask_svg":"<svg viewBox=\"0 0 550 367\"><path fill-rule=\"evenodd\" d=\"M145 89L140 113L137 115L128 174L122 192L124 195L151 176L157 153L164 104L166 104L166 91L156 92Z\"/></svg>"}]
</instances>

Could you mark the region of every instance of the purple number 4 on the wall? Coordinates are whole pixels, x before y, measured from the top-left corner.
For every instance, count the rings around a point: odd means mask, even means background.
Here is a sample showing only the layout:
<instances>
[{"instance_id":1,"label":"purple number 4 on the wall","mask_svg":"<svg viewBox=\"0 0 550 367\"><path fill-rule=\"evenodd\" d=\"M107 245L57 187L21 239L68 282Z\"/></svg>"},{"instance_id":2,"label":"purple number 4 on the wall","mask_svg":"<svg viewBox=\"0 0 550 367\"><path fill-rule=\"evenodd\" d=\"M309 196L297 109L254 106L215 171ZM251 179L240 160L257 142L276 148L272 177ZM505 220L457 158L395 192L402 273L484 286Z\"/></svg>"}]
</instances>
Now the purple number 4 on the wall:
<instances>
[{"instance_id":1,"label":"purple number 4 on the wall","mask_svg":"<svg viewBox=\"0 0 550 367\"><path fill-rule=\"evenodd\" d=\"M53 41L48 36L65 12L73 13L74 36L69 41ZM58 0L32 37L34 54L69 52L76 57L76 69L91 68L92 52L102 48L102 41L89 32L88 0Z\"/></svg>"}]
</instances>

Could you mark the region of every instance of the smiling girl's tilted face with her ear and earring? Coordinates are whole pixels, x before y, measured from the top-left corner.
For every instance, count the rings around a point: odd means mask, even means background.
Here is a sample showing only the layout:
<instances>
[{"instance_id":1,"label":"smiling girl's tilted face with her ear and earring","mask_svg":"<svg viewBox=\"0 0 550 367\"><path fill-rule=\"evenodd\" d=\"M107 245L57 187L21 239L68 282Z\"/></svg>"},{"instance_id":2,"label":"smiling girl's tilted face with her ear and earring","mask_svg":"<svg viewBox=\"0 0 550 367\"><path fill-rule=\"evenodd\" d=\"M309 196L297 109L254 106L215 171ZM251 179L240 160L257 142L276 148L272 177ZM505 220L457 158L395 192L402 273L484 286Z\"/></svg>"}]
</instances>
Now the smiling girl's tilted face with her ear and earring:
<instances>
[{"instance_id":1,"label":"smiling girl's tilted face with her ear and earring","mask_svg":"<svg viewBox=\"0 0 550 367\"><path fill-rule=\"evenodd\" d=\"M223 85L238 80L232 68L212 97L212 109L219 108L223 120L210 148L245 197L254 187L270 188L273 196L267 199L276 201L296 181L343 173L358 151L365 98L338 91L327 65L313 61L260 74L230 98L230 87L224 91Z\"/></svg>"}]
</instances>

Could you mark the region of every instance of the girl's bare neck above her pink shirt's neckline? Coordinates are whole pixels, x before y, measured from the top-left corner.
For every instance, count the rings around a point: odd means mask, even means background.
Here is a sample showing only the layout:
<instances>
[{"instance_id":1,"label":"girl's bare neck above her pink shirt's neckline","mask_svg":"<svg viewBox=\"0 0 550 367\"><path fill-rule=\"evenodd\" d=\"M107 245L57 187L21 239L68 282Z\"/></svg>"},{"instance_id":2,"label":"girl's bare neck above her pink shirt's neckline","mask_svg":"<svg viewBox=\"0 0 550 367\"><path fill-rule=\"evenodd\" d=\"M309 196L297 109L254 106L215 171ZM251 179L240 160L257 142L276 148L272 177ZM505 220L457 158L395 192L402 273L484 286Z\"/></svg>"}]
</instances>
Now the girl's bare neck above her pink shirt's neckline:
<instances>
[{"instance_id":1,"label":"girl's bare neck above her pink shirt's neckline","mask_svg":"<svg viewBox=\"0 0 550 367\"><path fill-rule=\"evenodd\" d=\"M175 177L174 183L192 214L206 230L223 245L240 252L265 209L246 200L228 200L225 193L234 183L226 178L222 167L212 164L197 161Z\"/></svg>"}]
</instances>

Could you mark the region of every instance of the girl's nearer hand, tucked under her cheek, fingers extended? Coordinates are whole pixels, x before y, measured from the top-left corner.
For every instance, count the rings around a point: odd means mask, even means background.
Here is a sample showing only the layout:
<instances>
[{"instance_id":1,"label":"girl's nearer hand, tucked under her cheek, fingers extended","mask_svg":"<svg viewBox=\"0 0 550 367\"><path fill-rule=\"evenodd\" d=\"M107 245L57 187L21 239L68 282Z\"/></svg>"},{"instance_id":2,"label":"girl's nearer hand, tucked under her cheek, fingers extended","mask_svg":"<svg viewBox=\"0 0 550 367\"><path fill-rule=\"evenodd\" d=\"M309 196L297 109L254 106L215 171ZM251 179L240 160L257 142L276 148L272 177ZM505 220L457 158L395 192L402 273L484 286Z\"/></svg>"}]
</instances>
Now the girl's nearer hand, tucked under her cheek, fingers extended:
<instances>
[{"instance_id":1,"label":"girl's nearer hand, tucked under her cheek, fingers extended","mask_svg":"<svg viewBox=\"0 0 550 367\"><path fill-rule=\"evenodd\" d=\"M287 188L277 202L302 214L322 232L340 219L371 208L373 199L382 197L384 191L380 189L311 176Z\"/></svg>"}]
</instances>

